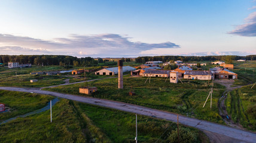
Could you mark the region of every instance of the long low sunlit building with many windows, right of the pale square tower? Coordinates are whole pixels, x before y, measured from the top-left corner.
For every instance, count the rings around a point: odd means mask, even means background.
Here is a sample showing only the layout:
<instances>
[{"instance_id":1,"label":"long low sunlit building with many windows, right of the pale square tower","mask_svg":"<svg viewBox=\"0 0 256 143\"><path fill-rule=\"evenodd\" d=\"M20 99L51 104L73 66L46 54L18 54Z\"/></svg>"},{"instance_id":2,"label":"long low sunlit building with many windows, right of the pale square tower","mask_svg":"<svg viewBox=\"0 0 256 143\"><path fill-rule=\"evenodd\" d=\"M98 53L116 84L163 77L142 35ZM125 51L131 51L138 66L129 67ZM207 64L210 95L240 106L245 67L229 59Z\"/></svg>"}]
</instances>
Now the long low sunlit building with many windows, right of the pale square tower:
<instances>
[{"instance_id":1,"label":"long low sunlit building with many windows, right of the pale square tower","mask_svg":"<svg viewBox=\"0 0 256 143\"><path fill-rule=\"evenodd\" d=\"M199 80L208 80L212 79L212 72L205 70L191 70L185 71L184 79L199 79Z\"/></svg>"}]
</instances>

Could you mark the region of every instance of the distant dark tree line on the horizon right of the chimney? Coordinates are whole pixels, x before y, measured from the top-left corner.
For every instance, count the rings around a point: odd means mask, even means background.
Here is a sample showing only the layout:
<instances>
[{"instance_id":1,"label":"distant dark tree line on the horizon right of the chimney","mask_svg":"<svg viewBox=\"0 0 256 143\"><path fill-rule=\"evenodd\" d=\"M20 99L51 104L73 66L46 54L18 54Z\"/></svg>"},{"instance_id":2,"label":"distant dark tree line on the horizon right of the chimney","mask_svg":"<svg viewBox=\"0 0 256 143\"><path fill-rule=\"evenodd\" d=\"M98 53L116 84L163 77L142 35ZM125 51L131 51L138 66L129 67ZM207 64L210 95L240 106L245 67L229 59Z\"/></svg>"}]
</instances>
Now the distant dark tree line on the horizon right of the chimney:
<instances>
[{"instance_id":1,"label":"distant dark tree line on the horizon right of the chimney","mask_svg":"<svg viewBox=\"0 0 256 143\"><path fill-rule=\"evenodd\" d=\"M229 61L230 60L256 60L256 55L246 55L246 56L239 56L239 55L208 55L208 56L174 56L174 55L164 55L164 56L154 56L154 57L138 57L135 58L136 63L145 63L146 61L171 61L171 60L181 60L183 62L188 61Z\"/></svg>"}]
</instances>

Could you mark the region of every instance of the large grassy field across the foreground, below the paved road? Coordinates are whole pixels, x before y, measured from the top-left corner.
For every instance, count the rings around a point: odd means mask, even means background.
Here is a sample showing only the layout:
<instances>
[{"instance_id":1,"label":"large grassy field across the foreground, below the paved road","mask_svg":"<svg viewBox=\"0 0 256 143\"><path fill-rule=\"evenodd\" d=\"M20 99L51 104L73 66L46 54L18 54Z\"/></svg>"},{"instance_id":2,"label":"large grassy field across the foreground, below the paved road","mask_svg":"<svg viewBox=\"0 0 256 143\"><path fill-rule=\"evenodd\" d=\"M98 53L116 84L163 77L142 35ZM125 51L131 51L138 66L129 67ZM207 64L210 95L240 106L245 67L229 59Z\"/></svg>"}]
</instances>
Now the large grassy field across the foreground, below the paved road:
<instances>
[{"instance_id":1,"label":"large grassy field across the foreground, below the paved road","mask_svg":"<svg viewBox=\"0 0 256 143\"><path fill-rule=\"evenodd\" d=\"M155 142L164 131L159 142L176 141L176 128L176 123L138 115L140 142ZM198 129L180 125L179 130L183 142L209 142ZM133 142L134 137L135 114L63 99L53 107L53 123L48 110L0 125L1 142Z\"/></svg>"}]
</instances>

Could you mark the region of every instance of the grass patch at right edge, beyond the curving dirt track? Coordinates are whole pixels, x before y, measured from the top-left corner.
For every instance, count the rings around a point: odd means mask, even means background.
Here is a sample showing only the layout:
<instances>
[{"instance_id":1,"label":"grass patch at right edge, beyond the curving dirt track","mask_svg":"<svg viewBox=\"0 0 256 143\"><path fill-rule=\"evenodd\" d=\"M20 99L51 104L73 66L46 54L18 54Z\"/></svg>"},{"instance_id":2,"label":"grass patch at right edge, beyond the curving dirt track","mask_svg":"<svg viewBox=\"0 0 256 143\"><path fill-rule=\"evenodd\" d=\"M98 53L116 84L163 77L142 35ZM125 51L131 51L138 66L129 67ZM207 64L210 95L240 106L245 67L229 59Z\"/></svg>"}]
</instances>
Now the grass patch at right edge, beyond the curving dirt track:
<instances>
[{"instance_id":1,"label":"grass patch at right edge, beyond the curving dirt track","mask_svg":"<svg viewBox=\"0 0 256 143\"><path fill-rule=\"evenodd\" d=\"M225 105L234 122L243 128L256 130L256 88L252 85L243 86L228 93Z\"/></svg>"}]
</instances>

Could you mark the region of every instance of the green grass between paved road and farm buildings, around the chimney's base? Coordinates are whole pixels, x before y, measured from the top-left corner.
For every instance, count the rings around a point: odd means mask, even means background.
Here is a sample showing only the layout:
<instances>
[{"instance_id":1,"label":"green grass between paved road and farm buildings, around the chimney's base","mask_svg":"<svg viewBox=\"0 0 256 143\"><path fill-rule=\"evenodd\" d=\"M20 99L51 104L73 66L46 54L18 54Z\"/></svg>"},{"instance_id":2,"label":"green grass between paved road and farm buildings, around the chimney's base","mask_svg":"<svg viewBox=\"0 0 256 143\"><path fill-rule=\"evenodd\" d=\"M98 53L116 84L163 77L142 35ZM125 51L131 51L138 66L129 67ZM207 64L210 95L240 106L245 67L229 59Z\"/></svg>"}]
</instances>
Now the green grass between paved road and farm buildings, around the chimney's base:
<instances>
[{"instance_id":1,"label":"green grass between paved road and farm buildings, around the chimney's base","mask_svg":"<svg viewBox=\"0 0 256 143\"><path fill-rule=\"evenodd\" d=\"M87 86L96 86L98 88L98 91L90 96L142 105L198 119L223 123L223 120L218 115L218 98L221 97L224 86L215 84L214 94L212 95L212 109L209 110L209 101L205 108L202 108L211 88L211 85L208 85L208 81L190 80L188 82L184 80L184 84L174 84L168 81L164 82L165 79L151 78L151 83L144 83L146 78L124 77L124 89L120 90L117 88L117 80L104 79L88 82ZM45 90L86 96L79 93L81 86L84 86L84 83ZM136 93L132 97L129 96L131 86L132 90Z\"/></svg>"}]
</instances>

